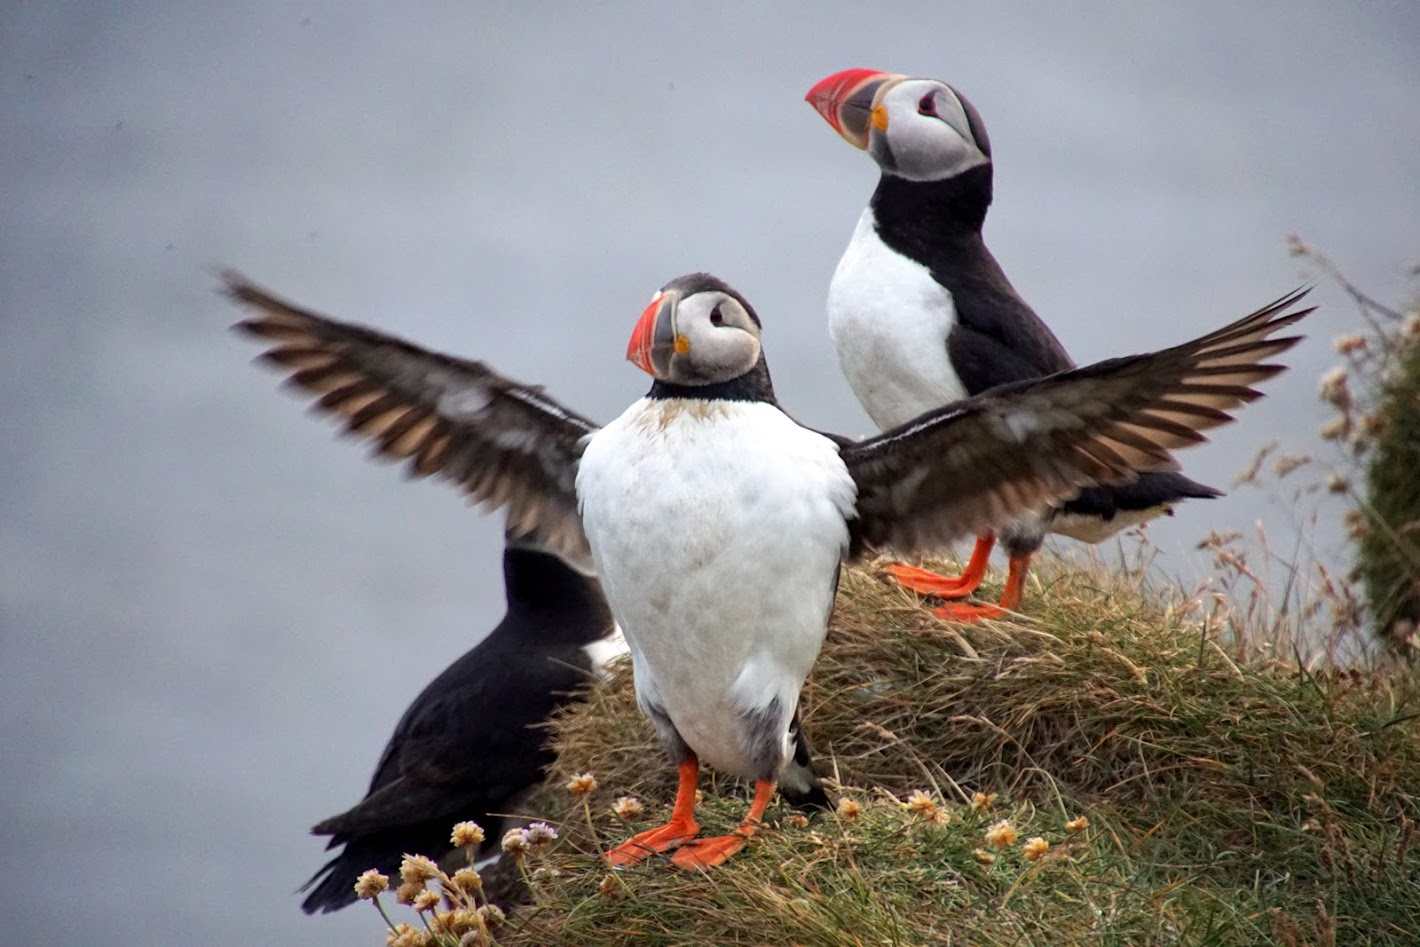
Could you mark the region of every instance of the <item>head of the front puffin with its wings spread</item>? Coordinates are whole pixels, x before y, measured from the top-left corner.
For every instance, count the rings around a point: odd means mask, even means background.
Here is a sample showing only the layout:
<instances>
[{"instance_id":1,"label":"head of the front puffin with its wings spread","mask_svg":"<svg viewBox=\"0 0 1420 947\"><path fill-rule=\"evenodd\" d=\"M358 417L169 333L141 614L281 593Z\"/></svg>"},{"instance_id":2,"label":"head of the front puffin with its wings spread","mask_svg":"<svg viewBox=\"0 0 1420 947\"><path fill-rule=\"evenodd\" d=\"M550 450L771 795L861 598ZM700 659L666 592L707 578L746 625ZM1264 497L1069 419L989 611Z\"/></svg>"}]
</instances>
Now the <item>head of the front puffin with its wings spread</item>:
<instances>
[{"instance_id":1,"label":"head of the front puffin with its wings spread","mask_svg":"<svg viewBox=\"0 0 1420 947\"><path fill-rule=\"evenodd\" d=\"M673 385L728 382L760 363L760 317L709 273L677 277L640 314L626 358Z\"/></svg>"}]
</instances>

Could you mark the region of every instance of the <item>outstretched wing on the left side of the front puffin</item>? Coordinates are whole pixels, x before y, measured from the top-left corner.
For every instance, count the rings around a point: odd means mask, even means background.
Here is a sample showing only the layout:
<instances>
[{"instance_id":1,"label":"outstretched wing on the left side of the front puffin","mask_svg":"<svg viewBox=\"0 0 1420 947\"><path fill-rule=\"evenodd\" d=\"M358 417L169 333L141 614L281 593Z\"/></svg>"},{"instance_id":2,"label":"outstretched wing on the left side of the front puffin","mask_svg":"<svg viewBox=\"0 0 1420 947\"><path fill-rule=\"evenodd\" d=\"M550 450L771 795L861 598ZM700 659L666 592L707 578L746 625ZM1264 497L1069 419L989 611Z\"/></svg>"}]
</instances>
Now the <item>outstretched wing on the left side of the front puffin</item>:
<instances>
[{"instance_id":1,"label":"outstretched wing on the left side of the front puffin","mask_svg":"<svg viewBox=\"0 0 1420 947\"><path fill-rule=\"evenodd\" d=\"M575 480L596 425L481 362L308 312L233 271L222 277L226 294L253 310L233 328L268 339L261 358L317 395L314 407L346 433L372 440L375 456L408 461L412 477L443 477L488 510L507 505L511 532L537 531L548 549L586 559Z\"/></svg>"}]
</instances>

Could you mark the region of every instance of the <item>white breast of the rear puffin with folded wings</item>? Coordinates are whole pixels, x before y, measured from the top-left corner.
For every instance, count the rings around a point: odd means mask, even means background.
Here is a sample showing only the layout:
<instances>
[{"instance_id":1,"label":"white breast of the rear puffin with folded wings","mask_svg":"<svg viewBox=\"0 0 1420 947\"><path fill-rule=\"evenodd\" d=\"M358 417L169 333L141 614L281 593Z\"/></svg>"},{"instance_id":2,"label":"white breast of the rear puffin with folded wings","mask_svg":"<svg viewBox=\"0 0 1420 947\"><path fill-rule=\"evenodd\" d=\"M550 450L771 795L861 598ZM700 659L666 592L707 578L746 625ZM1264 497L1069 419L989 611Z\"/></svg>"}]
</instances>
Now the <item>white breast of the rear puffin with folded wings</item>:
<instances>
[{"instance_id":1,"label":"white breast of the rear puffin with folded wings","mask_svg":"<svg viewBox=\"0 0 1420 947\"><path fill-rule=\"evenodd\" d=\"M828 285L828 334L858 402L879 429L966 398L947 358L951 294L889 248L869 207Z\"/></svg>"}]
</instances>

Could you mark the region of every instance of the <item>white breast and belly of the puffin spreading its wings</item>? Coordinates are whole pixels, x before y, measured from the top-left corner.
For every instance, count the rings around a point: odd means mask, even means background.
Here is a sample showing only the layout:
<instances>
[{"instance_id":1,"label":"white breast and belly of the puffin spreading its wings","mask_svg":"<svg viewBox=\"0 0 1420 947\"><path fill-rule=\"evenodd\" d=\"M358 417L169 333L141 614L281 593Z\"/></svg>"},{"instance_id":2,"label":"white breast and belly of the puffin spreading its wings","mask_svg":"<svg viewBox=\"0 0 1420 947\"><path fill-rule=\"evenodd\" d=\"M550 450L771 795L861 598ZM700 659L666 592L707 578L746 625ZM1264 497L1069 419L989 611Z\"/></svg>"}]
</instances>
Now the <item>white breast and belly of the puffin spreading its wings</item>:
<instances>
[{"instance_id":1,"label":"white breast and belly of the puffin spreading its wings","mask_svg":"<svg viewBox=\"0 0 1420 947\"><path fill-rule=\"evenodd\" d=\"M824 642L856 487L771 405L649 400L598 432L577 494L643 703L701 760L754 777L746 714L787 733Z\"/></svg>"}]
</instances>

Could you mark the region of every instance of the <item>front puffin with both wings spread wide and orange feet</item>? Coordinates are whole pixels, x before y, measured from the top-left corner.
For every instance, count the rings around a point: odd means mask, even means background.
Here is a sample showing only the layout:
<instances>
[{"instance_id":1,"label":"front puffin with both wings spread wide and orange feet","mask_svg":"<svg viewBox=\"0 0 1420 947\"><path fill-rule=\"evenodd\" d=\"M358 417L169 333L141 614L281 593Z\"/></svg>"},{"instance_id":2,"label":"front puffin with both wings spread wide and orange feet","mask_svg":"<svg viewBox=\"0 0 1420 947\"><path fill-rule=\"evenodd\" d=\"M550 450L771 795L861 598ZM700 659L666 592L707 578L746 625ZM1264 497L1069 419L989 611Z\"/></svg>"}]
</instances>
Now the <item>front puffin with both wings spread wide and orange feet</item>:
<instances>
[{"instance_id":1,"label":"front puffin with both wings spread wide and orange feet","mask_svg":"<svg viewBox=\"0 0 1420 947\"><path fill-rule=\"evenodd\" d=\"M1292 292L1147 355L1027 379L853 440L780 406L750 302L704 273L665 284L626 358L645 396L605 427L542 388L301 310L229 273L237 327L314 406L551 551L591 555L630 652L638 706L677 771L670 818L612 848L615 867L673 852L709 869L755 835L795 757L798 696L839 568L868 551L936 548L1082 487L1169 470L1172 451L1261 393L1296 344ZM753 782L727 835L701 836L706 764Z\"/></svg>"}]
</instances>

